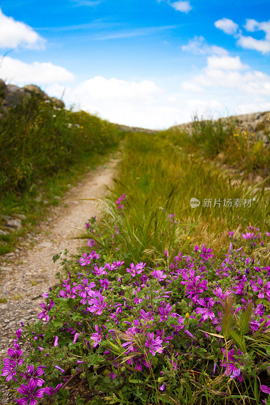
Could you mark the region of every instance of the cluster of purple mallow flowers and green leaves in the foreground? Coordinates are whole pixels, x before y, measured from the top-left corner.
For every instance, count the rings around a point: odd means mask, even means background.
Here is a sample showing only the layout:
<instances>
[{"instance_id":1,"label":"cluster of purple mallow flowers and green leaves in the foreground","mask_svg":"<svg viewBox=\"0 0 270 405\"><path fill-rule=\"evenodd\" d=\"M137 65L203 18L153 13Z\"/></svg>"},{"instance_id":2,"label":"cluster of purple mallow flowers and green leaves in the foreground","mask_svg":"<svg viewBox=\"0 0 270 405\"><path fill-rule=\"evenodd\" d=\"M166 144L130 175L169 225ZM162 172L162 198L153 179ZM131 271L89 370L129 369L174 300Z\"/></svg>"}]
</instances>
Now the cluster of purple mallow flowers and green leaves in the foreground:
<instances>
[{"instance_id":1,"label":"cluster of purple mallow flowers and green leaves in the foreground","mask_svg":"<svg viewBox=\"0 0 270 405\"><path fill-rule=\"evenodd\" d=\"M270 266L253 252L269 235L251 231L229 232L223 259L203 244L189 254L166 251L164 265L151 267L108 261L89 239L67 278L44 294L40 320L16 331L2 377L17 402L54 395L56 404L86 403L103 393L110 403L146 404L203 387L204 378L217 400L233 380L258 398L259 378L266 399Z\"/></svg>"}]
</instances>

